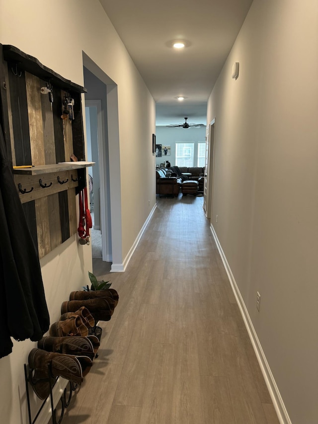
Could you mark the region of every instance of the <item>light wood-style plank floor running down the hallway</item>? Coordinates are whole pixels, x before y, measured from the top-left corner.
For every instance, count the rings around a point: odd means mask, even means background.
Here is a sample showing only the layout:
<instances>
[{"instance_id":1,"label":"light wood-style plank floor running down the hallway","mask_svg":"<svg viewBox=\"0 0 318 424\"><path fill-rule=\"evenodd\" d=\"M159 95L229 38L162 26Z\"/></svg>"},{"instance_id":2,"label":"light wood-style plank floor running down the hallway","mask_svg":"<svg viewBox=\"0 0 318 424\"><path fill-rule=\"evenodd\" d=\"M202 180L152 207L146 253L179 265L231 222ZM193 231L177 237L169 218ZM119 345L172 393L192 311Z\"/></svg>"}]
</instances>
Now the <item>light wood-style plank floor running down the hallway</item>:
<instances>
[{"instance_id":1,"label":"light wood-style plank floor running down the hallway","mask_svg":"<svg viewBox=\"0 0 318 424\"><path fill-rule=\"evenodd\" d=\"M120 296L64 424L277 424L203 212L157 198L124 273L94 260Z\"/></svg>"}]
</instances>

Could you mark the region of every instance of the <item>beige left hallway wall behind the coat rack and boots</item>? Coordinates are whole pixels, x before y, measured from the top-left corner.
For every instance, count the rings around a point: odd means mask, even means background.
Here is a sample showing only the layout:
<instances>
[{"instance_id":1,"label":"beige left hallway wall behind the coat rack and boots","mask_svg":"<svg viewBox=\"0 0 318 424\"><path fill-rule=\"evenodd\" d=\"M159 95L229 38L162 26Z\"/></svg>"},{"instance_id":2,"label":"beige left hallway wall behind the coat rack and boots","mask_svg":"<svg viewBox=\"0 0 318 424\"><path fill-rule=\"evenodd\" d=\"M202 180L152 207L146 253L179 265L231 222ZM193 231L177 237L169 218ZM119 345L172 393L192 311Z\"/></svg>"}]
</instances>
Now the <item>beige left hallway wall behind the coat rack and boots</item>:
<instances>
[{"instance_id":1,"label":"beige left hallway wall behind the coat rack and boots","mask_svg":"<svg viewBox=\"0 0 318 424\"><path fill-rule=\"evenodd\" d=\"M72 35L67 41L66 32ZM97 0L48 0L45 5L40 0L1 1L0 43L16 46L79 85L83 85L84 51L117 84L124 258L156 201L151 145L155 102L103 8ZM142 167L135 166L141 163ZM53 323L70 291L87 283L90 247L80 246L73 236L45 256L41 267ZM23 363L35 345L29 340L15 342L13 352L0 359L1 422L27 422Z\"/></svg>"}]
</instances>

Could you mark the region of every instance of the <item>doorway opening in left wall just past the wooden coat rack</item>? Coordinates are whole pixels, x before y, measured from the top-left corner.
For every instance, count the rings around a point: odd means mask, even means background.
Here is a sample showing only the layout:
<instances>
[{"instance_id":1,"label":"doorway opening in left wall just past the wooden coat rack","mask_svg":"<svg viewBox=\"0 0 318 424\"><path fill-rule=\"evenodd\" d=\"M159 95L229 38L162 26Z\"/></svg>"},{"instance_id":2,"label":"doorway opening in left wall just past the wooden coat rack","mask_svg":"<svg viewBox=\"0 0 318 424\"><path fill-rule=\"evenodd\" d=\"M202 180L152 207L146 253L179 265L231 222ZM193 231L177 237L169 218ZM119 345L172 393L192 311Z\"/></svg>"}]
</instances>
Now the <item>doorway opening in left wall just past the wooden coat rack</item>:
<instances>
[{"instance_id":1,"label":"doorway opening in left wall just past the wooden coat rack","mask_svg":"<svg viewBox=\"0 0 318 424\"><path fill-rule=\"evenodd\" d=\"M92 233L96 232L91 237L93 266L94 256L98 256L109 267L111 263L111 271L122 271L117 85L84 52L83 74L87 159L95 162L88 169Z\"/></svg>"}]
</instances>

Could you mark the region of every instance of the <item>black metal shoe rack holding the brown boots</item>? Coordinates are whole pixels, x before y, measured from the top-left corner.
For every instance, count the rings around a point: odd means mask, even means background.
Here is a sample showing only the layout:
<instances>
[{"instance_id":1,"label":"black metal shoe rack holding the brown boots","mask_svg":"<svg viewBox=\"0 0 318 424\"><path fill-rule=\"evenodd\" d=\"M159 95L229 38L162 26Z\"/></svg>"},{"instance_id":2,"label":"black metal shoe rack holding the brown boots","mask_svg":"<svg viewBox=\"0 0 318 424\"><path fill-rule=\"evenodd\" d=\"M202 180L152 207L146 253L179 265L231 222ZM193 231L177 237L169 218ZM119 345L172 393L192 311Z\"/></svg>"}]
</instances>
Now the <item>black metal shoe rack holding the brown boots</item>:
<instances>
[{"instance_id":1,"label":"black metal shoe rack holding the brown boots","mask_svg":"<svg viewBox=\"0 0 318 424\"><path fill-rule=\"evenodd\" d=\"M37 419L39 418L39 416L41 414L41 411L43 410L43 407L45 406L45 404L47 403L47 400L49 398L50 398L50 403L51 403L52 423L53 424L62 423L65 409L70 405L70 402L71 402L71 399L72 399L72 394L77 389L78 385L72 383L71 381L68 382L68 385L64 389L63 395L61 396L61 398L59 400L61 402L62 409L61 409L60 418L59 418L59 420L57 420L57 408L54 408L53 387L57 383L58 378L55 379L54 377L52 377L52 378L49 377L47 379L43 379L43 382L47 381L47 383L50 387L50 394L46 399L44 399L41 407L39 408L39 410L37 411L37 413L35 415L35 418L32 420L29 384L31 386L33 386L33 384L34 384L33 378L32 378L33 369L29 368L29 372L27 371L27 369L28 369L28 366L26 364L24 364L24 377L25 377L25 389L26 389L26 399L27 399L27 406L28 406L29 424L34 424L37 421ZM50 365L48 365L48 375L49 376L51 375ZM54 384L52 384L53 380L55 380ZM68 390L68 388L69 388L69 390ZM68 395L68 391L69 391L69 395ZM59 403L59 401L57 402L57 404Z\"/></svg>"}]
</instances>

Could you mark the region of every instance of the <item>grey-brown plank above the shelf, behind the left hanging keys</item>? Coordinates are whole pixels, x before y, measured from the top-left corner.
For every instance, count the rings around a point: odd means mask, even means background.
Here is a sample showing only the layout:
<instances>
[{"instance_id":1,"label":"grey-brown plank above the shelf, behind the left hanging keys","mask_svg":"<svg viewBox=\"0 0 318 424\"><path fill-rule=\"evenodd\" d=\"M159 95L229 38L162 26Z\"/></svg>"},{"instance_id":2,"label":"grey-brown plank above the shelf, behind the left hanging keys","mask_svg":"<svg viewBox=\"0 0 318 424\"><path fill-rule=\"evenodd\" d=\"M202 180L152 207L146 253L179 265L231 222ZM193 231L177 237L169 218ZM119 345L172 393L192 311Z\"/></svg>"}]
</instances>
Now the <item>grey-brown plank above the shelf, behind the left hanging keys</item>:
<instances>
[{"instance_id":1,"label":"grey-brown plank above the shelf, behind the left hanging keys","mask_svg":"<svg viewBox=\"0 0 318 424\"><path fill-rule=\"evenodd\" d=\"M46 86L46 82L43 80L40 80L40 84L41 84L41 87ZM41 109L42 109L42 119L43 119L42 125L43 125L45 164L51 165L56 163L56 156L55 156L53 109L52 109L48 94L41 95Z\"/></svg>"}]
</instances>

